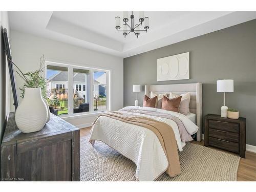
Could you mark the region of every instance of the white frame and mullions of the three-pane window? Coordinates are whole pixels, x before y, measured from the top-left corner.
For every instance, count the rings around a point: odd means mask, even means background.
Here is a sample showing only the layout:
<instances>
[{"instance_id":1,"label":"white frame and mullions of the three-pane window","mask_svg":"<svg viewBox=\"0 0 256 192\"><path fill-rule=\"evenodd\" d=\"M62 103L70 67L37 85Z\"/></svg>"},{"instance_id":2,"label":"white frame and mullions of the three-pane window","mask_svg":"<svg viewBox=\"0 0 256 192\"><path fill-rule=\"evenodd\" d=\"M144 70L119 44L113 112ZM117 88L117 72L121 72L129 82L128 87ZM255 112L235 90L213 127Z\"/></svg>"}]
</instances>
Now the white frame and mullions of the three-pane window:
<instances>
[{"instance_id":1,"label":"white frame and mullions of the three-pane window","mask_svg":"<svg viewBox=\"0 0 256 192\"><path fill-rule=\"evenodd\" d=\"M55 61L51 59L46 59L45 61L45 77L47 78L47 66L59 66L59 67L65 67L68 68L68 85L66 86L66 89L68 89L68 115L61 115L59 117L61 118L69 118L69 117L75 117L75 116L81 116L81 115L93 115L93 114L98 114L102 113L103 111L94 111L93 109L93 99L94 99L94 91L93 86L94 86L94 72L104 72L106 73L106 86L108 89L106 90L106 110L104 111L110 111L111 110L111 69L104 68L104 69L99 69L94 66L80 66L77 65L76 63L71 63L71 62L65 62L65 61ZM89 70L90 71L90 110L89 112L82 112L82 113L75 113L74 114L74 100L73 100L73 71L74 69L84 69L84 70ZM79 86L78 86L79 90ZM81 87L81 90L83 90L83 87Z\"/></svg>"}]
</instances>

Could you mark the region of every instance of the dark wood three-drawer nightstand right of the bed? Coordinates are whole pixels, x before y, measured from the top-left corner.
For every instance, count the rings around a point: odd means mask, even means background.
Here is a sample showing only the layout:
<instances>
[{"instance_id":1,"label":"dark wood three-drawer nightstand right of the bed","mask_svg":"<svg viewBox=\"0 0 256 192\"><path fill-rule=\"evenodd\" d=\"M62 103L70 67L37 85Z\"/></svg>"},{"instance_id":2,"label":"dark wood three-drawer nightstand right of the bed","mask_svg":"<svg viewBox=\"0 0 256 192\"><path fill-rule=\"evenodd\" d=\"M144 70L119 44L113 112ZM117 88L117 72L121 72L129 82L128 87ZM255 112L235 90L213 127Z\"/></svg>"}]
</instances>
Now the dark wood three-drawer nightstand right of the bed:
<instances>
[{"instance_id":1,"label":"dark wood three-drawer nightstand right of the bed","mask_svg":"<svg viewBox=\"0 0 256 192\"><path fill-rule=\"evenodd\" d=\"M204 146L214 146L240 154L245 158L246 119L223 118L220 115L205 116Z\"/></svg>"}]
</instances>

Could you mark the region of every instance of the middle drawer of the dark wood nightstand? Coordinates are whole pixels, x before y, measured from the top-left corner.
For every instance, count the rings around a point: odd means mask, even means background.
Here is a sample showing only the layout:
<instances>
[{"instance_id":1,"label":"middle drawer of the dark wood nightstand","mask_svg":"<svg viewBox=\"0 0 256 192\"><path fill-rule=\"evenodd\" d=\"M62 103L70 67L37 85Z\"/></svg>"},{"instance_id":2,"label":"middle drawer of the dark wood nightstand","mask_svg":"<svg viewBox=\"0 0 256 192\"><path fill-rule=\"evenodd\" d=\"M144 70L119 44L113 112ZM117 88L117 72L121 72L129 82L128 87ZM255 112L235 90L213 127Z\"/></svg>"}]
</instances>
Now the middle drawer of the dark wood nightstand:
<instances>
[{"instance_id":1,"label":"middle drawer of the dark wood nightstand","mask_svg":"<svg viewBox=\"0 0 256 192\"><path fill-rule=\"evenodd\" d=\"M227 131L222 131L222 130L217 130L217 129L211 129L209 128L209 137L215 137L218 139L223 139L227 141L232 141L232 142L239 142L239 134L238 133L233 133L233 132L227 132Z\"/></svg>"}]
</instances>

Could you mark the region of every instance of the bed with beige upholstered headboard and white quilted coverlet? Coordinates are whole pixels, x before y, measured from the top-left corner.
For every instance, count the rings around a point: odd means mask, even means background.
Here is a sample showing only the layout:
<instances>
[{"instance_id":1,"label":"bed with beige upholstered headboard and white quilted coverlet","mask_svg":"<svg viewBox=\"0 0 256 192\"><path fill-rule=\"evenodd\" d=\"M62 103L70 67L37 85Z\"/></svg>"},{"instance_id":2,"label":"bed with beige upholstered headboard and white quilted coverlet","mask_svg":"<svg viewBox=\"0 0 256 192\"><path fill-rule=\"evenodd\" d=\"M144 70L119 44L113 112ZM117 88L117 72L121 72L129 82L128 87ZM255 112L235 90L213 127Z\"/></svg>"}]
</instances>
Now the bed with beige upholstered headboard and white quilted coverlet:
<instances>
[{"instance_id":1,"label":"bed with beige upholstered headboard and white quilted coverlet","mask_svg":"<svg viewBox=\"0 0 256 192\"><path fill-rule=\"evenodd\" d=\"M136 164L135 177L139 181L153 181L165 171L170 177L176 176L179 174L178 172L172 175L167 171L169 169L178 170L179 167L176 162L170 161L170 156L172 155L166 153L167 147L164 147L163 141L156 132L146 129L145 126L142 126L137 122L124 121L118 117L120 114L133 116L133 119L139 118L143 120L146 119L146 121L150 120L152 121L151 123L167 124L170 127L169 132L174 133L172 139L169 140L174 140L175 145L177 145L176 150L174 150L175 147L169 147L171 148L171 151L173 150L172 153L178 153L178 150L182 152L182 148L185 146L185 140L180 132L178 121L182 122L189 135L196 134L197 141L201 141L202 139L201 83L145 86L145 95L150 95L152 91L159 94L166 92L183 94L189 92L190 113L185 116L180 113L156 108L127 106L118 112L109 112L109 114L100 115L93 123L90 136L90 142L92 144L95 140L102 141L117 150L126 158L131 159ZM111 115L115 116L115 118ZM178 121L175 119L178 119ZM165 141L166 140L167 139L165 139ZM172 142L169 140L167 142ZM173 156L175 157L175 155Z\"/></svg>"}]
</instances>

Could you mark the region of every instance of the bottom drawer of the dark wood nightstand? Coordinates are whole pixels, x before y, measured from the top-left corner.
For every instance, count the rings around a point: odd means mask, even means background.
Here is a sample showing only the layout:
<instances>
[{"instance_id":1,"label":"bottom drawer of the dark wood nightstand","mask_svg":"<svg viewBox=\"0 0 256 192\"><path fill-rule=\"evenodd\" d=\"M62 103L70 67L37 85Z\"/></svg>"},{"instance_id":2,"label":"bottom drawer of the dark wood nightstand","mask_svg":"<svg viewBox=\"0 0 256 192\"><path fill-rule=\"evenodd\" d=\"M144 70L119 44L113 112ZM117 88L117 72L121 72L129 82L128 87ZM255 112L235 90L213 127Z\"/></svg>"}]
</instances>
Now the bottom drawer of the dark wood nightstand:
<instances>
[{"instance_id":1,"label":"bottom drawer of the dark wood nightstand","mask_svg":"<svg viewBox=\"0 0 256 192\"><path fill-rule=\"evenodd\" d=\"M209 145L222 148L223 150L239 153L239 143L209 137Z\"/></svg>"}]
</instances>

